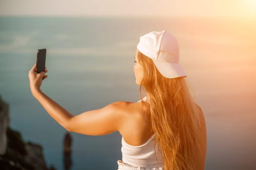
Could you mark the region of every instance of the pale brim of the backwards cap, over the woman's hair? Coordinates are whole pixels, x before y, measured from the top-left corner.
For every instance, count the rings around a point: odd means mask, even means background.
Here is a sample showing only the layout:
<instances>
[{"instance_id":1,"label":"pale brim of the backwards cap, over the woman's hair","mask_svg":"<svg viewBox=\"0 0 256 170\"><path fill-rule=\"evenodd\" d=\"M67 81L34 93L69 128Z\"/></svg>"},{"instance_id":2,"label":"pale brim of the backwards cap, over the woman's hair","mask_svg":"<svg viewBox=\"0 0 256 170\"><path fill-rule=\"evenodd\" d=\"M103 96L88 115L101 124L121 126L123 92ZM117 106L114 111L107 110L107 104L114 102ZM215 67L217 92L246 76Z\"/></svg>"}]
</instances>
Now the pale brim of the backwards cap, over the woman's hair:
<instances>
[{"instance_id":1,"label":"pale brim of the backwards cap, over the woman's hair","mask_svg":"<svg viewBox=\"0 0 256 170\"><path fill-rule=\"evenodd\" d=\"M187 77L179 63L165 63L153 60L158 71L166 78Z\"/></svg>"}]
</instances>

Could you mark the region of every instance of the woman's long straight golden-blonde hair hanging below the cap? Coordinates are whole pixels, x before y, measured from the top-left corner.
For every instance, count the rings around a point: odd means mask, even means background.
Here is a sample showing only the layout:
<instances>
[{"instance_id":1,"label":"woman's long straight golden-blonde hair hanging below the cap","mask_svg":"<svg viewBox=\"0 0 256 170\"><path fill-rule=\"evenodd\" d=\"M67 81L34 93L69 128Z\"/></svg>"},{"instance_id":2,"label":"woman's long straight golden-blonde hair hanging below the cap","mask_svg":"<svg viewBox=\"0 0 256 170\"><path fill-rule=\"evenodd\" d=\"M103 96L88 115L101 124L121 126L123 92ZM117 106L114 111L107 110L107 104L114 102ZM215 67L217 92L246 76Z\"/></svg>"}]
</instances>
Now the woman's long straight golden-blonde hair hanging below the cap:
<instances>
[{"instance_id":1,"label":"woman's long straight golden-blonde hair hanging below the cap","mask_svg":"<svg viewBox=\"0 0 256 170\"><path fill-rule=\"evenodd\" d=\"M199 109L184 77L166 78L151 58L138 51L143 66L142 85L147 102L142 101L147 119L156 133L155 150L164 170L198 170L198 149L202 146ZM141 85L139 86L141 98ZM158 153L160 149L160 154Z\"/></svg>"}]
</instances>

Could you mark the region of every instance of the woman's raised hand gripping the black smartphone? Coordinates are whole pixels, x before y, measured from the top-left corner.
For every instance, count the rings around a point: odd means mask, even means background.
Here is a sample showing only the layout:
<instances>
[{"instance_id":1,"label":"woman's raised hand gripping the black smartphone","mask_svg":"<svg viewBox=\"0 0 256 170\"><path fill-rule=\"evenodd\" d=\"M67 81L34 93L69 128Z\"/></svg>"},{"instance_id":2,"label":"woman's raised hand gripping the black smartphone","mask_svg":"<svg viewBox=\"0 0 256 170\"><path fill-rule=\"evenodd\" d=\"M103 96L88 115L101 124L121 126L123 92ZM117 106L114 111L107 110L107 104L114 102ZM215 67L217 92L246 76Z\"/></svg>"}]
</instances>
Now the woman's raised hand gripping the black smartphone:
<instances>
[{"instance_id":1,"label":"woman's raised hand gripping the black smartphone","mask_svg":"<svg viewBox=\"0 0 256 170\"><path fill-rule=\"evenodd\" d=\"M45 73L47 72L46 67L44 69L45 69L44 71L37 73L36 64L34 64L34 66L29 70L29 73L28 73L29 85L30 85L31 93L33 95L35 92L40 90L42 80L48 77L47 75L45 75Z\"/></svg>"}]
</instances>

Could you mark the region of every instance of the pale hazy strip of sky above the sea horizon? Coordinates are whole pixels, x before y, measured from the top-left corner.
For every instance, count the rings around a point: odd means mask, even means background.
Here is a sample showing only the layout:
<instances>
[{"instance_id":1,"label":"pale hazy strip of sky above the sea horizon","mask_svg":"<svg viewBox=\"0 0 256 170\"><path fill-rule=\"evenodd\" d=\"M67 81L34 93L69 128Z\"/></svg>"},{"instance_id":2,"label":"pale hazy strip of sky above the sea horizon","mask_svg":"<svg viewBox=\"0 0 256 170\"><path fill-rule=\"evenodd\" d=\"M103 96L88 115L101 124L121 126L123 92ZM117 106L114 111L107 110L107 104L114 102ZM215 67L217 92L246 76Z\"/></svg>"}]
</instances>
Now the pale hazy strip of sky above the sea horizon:
<instances>
[{"instance_id":1,"label":"pale hazy strip of sky above the sea horizon","mask_svg":"<svg viewBox=\"0 0 256 170\"><path fill-rule=\"evenodd\" d=\"M256 0L0 0L0 16L256 17Z\"/></svg>"}]
</instances>

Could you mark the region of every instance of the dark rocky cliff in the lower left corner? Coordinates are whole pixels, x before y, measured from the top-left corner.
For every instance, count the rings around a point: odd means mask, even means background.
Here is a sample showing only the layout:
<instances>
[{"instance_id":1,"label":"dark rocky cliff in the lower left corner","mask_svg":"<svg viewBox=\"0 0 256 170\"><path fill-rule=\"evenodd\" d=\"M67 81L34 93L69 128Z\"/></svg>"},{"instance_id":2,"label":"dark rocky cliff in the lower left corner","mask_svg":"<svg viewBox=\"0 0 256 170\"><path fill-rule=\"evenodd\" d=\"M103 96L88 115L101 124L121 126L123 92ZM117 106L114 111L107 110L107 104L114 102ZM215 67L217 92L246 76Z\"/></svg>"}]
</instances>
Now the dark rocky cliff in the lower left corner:
<instances>
[{"instance_id":1,"label":"dark rocky cliff in the lower left corner","mask_svg":"<svg viewBox=\"0 0 256 170\"><path fill-rule=\"evenodd\" d=\"M9 107L0 96L0 170L48 170L39 144L24 142L9 127ZM49 170L55 170L53 166Z\"/></svg>"}]
</instances>

